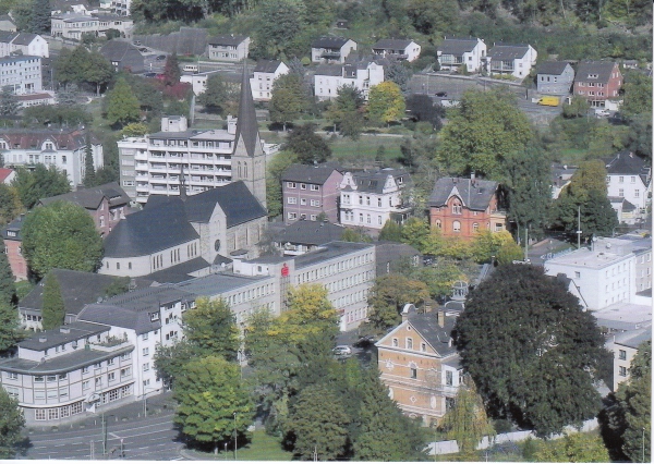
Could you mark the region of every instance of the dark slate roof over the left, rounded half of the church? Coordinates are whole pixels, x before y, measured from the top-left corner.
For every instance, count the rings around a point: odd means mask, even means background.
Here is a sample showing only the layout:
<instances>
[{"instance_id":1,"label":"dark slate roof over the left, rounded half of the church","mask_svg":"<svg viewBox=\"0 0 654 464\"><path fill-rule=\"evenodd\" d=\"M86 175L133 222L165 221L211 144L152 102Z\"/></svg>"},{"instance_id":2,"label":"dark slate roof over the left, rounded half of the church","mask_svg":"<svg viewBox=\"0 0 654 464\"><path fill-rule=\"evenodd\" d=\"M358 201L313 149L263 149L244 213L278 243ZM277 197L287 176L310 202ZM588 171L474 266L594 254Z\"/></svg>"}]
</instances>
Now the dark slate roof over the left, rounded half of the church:
<instances>
[{"instance_id":1,"label":"dark slate roof over the left, rounded half of the church","mask_svg":"<svg viewBox=\"0 0 654 464\"><path fill-rule=\"evenodd\" d=\"M159 207L146 206L121 220L105 240L105 256L144 256L198 237L186 220L183 202L167 197Z\"/></svg>"}]
</instances>

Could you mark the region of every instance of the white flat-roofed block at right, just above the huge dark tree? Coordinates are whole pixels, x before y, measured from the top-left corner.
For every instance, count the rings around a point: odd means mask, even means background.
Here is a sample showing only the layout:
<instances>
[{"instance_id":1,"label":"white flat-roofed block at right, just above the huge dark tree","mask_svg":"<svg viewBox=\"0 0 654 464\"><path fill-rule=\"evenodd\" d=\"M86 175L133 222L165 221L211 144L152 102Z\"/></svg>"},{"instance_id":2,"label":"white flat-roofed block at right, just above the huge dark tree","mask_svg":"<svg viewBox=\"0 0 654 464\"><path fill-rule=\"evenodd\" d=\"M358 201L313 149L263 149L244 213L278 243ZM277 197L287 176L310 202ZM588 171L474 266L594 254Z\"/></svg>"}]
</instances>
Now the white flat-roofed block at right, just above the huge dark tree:
<instances>
[{"instance_id":1,"label":"white flat-roofed block at right, just above the huge dark tree","mask_svg":"<svg viewBox=\"0 0 654 464\"><path fill-rule=\"evenodd\" d=\"M570 279L572 293L579 295L584 308L602 309L614 303L630 302L637 292L635 256L611 247L606 243L594 251L581 248L549 259L545 261L545 273L562 273Z\"/></svg>"}]
</instances>

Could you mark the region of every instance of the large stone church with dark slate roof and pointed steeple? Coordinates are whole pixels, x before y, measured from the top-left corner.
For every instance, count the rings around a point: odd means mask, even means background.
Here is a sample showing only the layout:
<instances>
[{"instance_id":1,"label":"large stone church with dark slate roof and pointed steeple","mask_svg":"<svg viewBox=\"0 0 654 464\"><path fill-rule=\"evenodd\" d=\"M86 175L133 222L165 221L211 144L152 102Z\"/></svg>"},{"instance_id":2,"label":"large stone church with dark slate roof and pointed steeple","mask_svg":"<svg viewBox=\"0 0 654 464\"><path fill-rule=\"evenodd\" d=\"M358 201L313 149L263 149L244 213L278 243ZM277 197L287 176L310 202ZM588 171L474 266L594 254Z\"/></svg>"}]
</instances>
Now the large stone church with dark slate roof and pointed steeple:
<instances>
[{"instance_id":1,"label":"large stone church with dark slate roof and pointed steeple","mask_svg":"<svg viewBox=\"0 0 654 464\"><path fill-rule=\"evenodd\" d=\"M183 281L206 276L234 257L257 257L267 222L266 157L244 68L232 182L187 195L180 175L180 195L152 195L143 210L109 233L98 272Z\"/></svg>"}]
</instances>

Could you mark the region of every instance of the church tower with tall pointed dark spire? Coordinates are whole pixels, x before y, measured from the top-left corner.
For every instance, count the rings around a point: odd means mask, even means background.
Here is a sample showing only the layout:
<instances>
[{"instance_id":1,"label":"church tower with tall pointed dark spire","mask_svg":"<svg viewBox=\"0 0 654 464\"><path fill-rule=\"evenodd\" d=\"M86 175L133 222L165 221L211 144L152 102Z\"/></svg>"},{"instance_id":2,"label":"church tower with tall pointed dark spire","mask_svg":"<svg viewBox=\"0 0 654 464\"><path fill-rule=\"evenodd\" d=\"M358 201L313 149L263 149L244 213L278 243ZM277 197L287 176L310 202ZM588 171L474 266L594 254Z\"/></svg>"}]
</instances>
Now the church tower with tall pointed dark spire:
<instances>
[{"instance_id":1,"label":"church tower with tall pointed dark spire","mask_svg":"<svg viewBox=\"0 0 654 464\"><path fill-rule=\"evenodd\" d=\"M241 100L234 151L232 154L232 181L243 181L250 192L266 206L266 154L262 146L254 111L247 64L243 63Z\"/></svg>"}]
</instances>

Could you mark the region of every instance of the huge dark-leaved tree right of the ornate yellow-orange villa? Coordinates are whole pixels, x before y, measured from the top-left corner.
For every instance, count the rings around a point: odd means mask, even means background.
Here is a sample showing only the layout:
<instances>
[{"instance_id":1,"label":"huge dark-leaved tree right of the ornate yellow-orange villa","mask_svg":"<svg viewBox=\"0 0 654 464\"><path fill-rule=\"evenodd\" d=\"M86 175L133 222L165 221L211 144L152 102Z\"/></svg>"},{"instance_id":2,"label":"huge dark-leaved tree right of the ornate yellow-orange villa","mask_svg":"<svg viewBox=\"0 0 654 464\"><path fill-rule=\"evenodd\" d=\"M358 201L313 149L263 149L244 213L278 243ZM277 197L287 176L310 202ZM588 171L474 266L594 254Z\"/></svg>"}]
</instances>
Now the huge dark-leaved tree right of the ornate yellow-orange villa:
<instances>
[{"instance_id":1,"label":"huge dark-leaved tree right of the ornate yellow-orange villa","mask_svg":"<svg viewBox=\"0 0 654 464\"><path fill-rule=\"evenodd\" d=\"M609 354L597 322L541 268L498 267L471 292L456 343L495 417L546 437L600 411L593 381Z\"/></svg>"}]
</instances>

